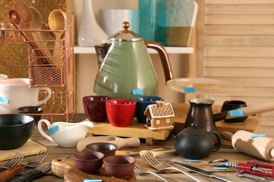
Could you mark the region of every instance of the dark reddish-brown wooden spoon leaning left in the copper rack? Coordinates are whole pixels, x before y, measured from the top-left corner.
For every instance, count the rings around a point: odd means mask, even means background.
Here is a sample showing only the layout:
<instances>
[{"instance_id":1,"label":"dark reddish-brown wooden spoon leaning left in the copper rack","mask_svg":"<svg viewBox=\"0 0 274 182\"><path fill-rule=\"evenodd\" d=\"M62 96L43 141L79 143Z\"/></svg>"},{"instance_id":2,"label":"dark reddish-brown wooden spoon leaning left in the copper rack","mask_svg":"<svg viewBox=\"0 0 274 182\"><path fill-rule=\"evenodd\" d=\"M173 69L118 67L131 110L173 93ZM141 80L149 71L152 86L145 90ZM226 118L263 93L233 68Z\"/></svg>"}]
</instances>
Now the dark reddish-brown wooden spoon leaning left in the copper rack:
<instances>
[{"instance_id":1,"label":"dark reddish-brown wooden spoon leaning left in the copper rack","mask_svg":"<svg viewBox=\"0 0 274 182\"><path fill-rule=\"evenodd\" d=\"M37 55L39 55L40 59L43 60L44 64L51 64L51 61L46 59L45 53L40 50L39 46L34 42L32 34L30 34L29 31L22 31L27 30L28 28L27 25L21 21L20 15L17 13L17 11L10 10L8 13L8 18L10 19L10 22L13 24L13 26L20 30L20 34L25 38L27 43L32 46Z\"/></svg>"}]
</instances>

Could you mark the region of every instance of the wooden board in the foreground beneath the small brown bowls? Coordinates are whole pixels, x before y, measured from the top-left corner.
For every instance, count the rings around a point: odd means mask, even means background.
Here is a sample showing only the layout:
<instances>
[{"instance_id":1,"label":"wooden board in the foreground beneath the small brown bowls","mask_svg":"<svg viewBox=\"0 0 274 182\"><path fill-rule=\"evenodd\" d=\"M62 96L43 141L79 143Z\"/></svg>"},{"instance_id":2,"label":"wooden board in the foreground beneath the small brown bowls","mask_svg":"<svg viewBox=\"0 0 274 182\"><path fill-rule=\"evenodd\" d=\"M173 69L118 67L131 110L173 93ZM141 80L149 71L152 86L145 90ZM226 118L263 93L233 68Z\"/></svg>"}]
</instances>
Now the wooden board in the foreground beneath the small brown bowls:
<instances>
[{"instance_id":1,"label":"wooden board in the foreground beneath the small brown bowls","mask_svg":"<svg viewBox=\"0 0 274 182\"><path fill-rule=\"evenodd\" d=\"M136 174L134 172L123 179L117 179L106 174L104 167L99 169L95 174L86 174L74 167L74 163L70 160L56 159L51 163L51 170L53 174L64 178L67 182L84 181L84 179L102 179L103 181L136 181Z\"/></svg>"}]
</instances>

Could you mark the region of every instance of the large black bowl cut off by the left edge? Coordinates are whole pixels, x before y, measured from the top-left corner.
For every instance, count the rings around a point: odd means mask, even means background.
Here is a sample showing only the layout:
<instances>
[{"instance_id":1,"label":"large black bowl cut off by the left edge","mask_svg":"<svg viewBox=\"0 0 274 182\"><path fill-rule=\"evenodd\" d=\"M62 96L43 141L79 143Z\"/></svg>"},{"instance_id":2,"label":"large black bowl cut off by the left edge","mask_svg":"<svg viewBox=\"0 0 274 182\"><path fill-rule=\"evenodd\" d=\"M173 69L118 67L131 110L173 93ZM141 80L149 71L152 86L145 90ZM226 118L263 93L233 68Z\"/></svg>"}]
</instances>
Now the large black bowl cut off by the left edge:
<instances>
[{"instance_id":1,"label":"large black bowl cut off by the left edge","mask_svg":"<svg viewBox=\"0 0 274 182\"><path fill-rule=\"evenodd\" d=\"M23 146L34 127L34 118L22 114L0 115L0 150L12 150Z\"/></svg>"}]
</instances>

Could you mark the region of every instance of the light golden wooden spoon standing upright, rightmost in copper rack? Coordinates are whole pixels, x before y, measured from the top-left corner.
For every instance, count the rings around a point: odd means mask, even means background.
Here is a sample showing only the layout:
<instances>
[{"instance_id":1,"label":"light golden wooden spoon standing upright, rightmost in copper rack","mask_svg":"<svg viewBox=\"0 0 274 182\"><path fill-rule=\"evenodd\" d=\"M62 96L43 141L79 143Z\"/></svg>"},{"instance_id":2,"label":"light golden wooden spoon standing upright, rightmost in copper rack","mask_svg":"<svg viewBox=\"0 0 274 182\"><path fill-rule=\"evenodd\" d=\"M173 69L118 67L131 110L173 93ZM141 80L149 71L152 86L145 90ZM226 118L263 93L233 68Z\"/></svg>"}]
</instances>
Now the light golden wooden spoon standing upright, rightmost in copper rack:
<instances>
[{"instance_id":1,"label":"light golden wooden spoon standing upright, rightmost in copper rack","mask_svg":"<svg viewBox=\"0 0 274 182\"><path fill-rule=\"evenodd\" d=\"M48 16L48 27L56 36L56 43L54 46L53 55L56 57L56 64L62 64L63 55L63 41L62 37L65 33L65 13L62 10L53 10Z\"/></svg>"}]
</instances>

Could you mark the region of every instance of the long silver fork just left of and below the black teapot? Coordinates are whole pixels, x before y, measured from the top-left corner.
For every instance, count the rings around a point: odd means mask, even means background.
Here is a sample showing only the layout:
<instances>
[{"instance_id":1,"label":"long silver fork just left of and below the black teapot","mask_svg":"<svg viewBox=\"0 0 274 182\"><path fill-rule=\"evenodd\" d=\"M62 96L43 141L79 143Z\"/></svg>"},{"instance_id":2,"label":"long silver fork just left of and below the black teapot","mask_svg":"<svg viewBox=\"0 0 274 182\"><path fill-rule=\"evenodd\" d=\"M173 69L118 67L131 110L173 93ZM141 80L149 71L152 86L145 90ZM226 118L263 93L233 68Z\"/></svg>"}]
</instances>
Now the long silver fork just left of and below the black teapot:
<instances>
[{"instance_id":1,"label":"long silver fork just left of and below the black teapot","mask_svg":"<svg viewBox=\"0 0 274 182\"><path fill-rule=\"evenodd\" d=\"M195 181L204 181L203 179L197 179L197 177L193 176L189 172L185 172L185 171L178 169L176 167L166 167L166 166L162 165L162 163L160 163L150 151L140 151L140 155L141 155L141 158L146 160L154 169L157 169L158 171L174 169L178 172L181 172L181 173L189 176L190 178L194 179Z\"/></svg>"}]
</instances>

